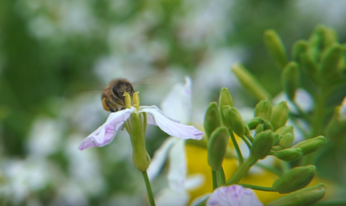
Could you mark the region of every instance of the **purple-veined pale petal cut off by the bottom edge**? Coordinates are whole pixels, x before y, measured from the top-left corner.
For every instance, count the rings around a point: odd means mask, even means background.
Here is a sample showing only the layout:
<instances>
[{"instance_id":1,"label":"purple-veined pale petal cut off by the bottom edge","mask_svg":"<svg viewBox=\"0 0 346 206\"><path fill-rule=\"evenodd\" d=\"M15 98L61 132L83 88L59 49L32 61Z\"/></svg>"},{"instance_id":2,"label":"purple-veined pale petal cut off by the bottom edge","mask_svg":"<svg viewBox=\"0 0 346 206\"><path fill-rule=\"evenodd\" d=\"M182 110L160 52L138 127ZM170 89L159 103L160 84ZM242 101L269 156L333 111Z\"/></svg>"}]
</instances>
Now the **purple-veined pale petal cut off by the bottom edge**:
<instances>
[{"instance_id":1,"label":"purple-veined pale petal cut off by the bottom edge","mask_svg":"<svg viewBox=\"0 0 346 206\"><path fill-rule=\"evenodd\" d=\"M240 185L219 187L207 200L207 206L263 206L256 194Z\"/></svg>"}]
</instances>

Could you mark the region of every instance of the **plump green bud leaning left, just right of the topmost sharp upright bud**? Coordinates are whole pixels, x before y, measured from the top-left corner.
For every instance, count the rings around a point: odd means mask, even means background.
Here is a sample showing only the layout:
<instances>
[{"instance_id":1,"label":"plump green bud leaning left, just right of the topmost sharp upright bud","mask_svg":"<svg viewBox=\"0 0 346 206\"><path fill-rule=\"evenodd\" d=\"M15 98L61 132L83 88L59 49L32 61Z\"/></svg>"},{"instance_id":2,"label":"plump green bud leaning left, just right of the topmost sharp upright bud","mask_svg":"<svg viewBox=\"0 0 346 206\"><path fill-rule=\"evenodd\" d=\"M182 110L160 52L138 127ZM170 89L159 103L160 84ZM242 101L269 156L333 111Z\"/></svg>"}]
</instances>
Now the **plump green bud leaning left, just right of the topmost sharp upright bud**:
<instances>
[{"instance_id":1,"label":"plump green bud leaning left, just right of the topmost sharp upright bud","mask_svg":"<svg viewBox=\"0 0 346 206\"><path fill-rule=\"evenodd\" d=\"M223 111L226 120L231 126L233 132L236 133L239 137L243 136L245 134L244 121L241 118L238 110L230 106L225 106L223 108Z\"/></svg>"}]
</instances>

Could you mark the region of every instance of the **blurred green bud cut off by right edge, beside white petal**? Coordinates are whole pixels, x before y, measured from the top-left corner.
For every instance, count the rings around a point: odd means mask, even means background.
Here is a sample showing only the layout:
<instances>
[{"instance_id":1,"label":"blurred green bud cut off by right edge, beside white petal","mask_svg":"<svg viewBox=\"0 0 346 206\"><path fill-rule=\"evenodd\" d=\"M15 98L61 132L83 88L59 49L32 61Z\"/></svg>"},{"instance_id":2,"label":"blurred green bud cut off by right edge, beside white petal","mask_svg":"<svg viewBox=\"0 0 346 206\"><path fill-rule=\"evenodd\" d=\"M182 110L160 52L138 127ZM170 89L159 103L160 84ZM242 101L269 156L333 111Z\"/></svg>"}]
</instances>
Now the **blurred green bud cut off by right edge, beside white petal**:
<instances>
[{"instance_id":1,"label":"blurred green bud cut off by right edge, beside white petal","mask_svg":"<svg viewBox=\"0 0 346 206\"><path fill-rule=\"evenodd\" d=\"M326 134L329 139L342 140L346 137L346 116L341 114L341 111L341 106L335 107L333 117L326 129Z\"/></svg>"}]
</instances>

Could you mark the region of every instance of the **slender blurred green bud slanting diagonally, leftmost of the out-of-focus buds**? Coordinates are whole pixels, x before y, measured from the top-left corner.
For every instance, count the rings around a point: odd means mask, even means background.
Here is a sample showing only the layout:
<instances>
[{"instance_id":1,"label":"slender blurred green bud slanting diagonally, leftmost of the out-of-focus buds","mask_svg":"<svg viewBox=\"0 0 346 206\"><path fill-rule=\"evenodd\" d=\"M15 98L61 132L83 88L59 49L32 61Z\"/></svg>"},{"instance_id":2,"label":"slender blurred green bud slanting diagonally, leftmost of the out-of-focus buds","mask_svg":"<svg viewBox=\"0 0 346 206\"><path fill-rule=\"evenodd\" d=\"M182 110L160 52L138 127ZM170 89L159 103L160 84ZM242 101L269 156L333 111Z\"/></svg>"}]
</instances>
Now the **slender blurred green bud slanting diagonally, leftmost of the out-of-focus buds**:
<instances>
[{"instance_id":1,"label":"slender blurred green bud slanting diagonally, leftmost of the out-of-focus buds","mask_svg":"<svg viewBox=\"0 0 346 206\"><path fill-rule=\"evenodd\" d=\"M262 100L271 97L270 93L249 71L247 71L247 69L244 68L243 65L234 64L232 66L232 71L237 76L240 83L248 89L256 99Z\"/></svg>"}]
</instances>

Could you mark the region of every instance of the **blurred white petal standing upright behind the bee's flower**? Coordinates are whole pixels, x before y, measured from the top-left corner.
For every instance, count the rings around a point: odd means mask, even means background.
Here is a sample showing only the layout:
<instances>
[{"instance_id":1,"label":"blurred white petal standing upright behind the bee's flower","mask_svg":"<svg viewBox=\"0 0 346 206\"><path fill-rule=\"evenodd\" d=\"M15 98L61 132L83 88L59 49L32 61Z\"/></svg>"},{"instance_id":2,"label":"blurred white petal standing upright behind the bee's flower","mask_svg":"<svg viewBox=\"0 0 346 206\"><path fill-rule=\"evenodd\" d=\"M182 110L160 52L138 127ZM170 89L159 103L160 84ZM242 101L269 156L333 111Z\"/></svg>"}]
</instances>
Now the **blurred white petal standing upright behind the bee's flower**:
<instances>
[{"instance_id":1,"label":"blurred white petal standing upright behind the bee's flower","mask_svg":"<svg viewBox=\"0 0 346 206\"><path fill-rule=\"evenodd\" d=\"M182 124L189 124L191 119L191 78L185 77L185 85L175 84L161 103L165 116L180 120Z\"/></svg>"}]
</instances>

